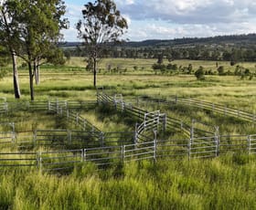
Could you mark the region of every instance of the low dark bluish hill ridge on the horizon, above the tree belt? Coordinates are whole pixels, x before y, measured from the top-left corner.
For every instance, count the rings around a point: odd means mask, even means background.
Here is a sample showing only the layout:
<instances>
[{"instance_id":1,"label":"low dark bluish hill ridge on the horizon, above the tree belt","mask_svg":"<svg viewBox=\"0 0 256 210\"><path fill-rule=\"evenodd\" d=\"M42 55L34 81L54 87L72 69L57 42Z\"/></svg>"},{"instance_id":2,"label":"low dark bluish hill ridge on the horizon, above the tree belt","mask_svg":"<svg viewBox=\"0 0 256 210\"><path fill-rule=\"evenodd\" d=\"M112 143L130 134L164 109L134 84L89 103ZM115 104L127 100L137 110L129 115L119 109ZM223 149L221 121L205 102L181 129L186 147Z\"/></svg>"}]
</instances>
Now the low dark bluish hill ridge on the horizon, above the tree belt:
<instances>
[{"instance_id":1,"label":"low dark bluish hill ridge on the horizon, above the tree belt","mask_svg":"<svg viewBox=\"0 0 256 210\"><path fill-rule=\"evenodd\" d=\"M218 37L184 37L169 40L151 39L138 42L125 42L122 47L189 47L196 45L230 45L236 47L256 46L256 34ZM61 43L61 47L77 47L79 42Z\"/></svg>"}]
</instances>

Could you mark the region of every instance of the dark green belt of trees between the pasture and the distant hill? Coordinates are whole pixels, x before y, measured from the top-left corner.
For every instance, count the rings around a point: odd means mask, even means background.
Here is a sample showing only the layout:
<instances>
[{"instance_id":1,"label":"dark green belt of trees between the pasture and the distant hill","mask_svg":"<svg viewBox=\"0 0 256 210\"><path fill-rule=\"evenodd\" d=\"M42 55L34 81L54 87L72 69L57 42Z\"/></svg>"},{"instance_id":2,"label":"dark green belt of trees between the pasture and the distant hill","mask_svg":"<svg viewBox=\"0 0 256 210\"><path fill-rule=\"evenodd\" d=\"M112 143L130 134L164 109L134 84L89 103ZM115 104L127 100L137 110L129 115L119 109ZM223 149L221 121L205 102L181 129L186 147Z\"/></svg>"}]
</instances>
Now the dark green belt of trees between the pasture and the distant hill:
<instances>
[{"instance_id":1,"label":"dark green belt of trees between the pasture and the distant hill","mask_svg":"<svg viewBox=\"0 0 256 210\"><path fill-rule=\"evenodd\" d=\"M86 51L80 47L72 47L64 50L65 55L71 57L87 56ZM103 54L104 58L158 58L161 55L168 60L219 60L237 62L255 62L256 45L251 47L227 47L227 46L190 46L190 47L110 47Z\"/></svg>"}]
</instances>

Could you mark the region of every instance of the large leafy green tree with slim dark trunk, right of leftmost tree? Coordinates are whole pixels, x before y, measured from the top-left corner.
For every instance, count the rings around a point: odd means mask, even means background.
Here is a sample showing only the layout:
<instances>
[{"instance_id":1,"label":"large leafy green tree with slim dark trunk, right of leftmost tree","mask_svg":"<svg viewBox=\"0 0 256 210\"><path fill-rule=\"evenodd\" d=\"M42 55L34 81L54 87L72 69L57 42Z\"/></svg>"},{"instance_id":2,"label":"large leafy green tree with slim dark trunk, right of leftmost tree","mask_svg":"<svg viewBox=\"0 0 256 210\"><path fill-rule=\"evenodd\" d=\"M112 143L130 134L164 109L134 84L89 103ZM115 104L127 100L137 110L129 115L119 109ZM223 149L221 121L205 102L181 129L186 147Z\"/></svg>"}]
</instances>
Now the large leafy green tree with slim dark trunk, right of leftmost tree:
<instances>
[{"instance_id":1,"label":"large leafy green tree with slim dark trunk, right of leftmost tree","mask_svg":"<svg viewBox=\"0 0 256 210\"><path fill-rule=\"evenodd\" d=\"M59 40L60 29L66 26L65 5L61 0L6 1L18 28L18 56L27 62L30 98L34 100L33 77L38 60L47 57L48 51Z\"/></svg>"}]
</instances>

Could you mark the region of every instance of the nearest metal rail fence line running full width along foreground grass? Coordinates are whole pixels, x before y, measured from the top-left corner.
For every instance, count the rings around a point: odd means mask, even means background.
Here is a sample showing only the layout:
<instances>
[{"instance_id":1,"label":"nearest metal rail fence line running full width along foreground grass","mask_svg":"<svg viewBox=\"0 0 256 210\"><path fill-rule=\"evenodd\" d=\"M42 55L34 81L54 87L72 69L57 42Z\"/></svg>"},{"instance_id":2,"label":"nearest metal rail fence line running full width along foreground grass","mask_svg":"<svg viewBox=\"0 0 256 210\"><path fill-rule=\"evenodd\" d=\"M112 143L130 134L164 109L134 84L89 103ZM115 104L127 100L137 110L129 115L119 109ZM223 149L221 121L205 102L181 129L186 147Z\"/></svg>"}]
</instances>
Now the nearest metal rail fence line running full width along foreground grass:
<instances>
[{"instance_id":1,"label":"nearest metal rail fence line running full width along foreground grass","mask_svg":"<svg viewBox=\"0 0 256 210\"><path fill-rule=\"evenodd\" d=\"M92 162L98 166L115 163L126 163L161 158L180 159L187 157L216 157L228 151L256 152L255 135L229 136L233 139L227 143L227 136L205 137L185 140L151 140L147 142L130 143L116 146L98 146L79 150L61 150L49 152L0 152L0 166L30 166L43 171L73 168L76 163ZM227 149L228 147L229 150Z\"/></svg>"}]
</instances>

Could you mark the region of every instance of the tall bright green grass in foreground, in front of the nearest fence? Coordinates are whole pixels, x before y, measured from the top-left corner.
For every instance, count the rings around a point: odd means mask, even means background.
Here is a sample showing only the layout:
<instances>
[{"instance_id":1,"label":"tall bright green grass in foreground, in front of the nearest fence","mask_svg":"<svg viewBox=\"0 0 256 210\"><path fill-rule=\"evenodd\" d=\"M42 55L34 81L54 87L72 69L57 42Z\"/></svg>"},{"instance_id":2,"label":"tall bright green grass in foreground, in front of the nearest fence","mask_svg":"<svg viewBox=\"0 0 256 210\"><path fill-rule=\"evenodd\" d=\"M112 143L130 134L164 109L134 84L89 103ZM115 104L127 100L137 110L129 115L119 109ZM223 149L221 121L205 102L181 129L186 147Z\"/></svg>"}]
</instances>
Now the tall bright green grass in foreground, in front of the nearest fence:
<instances>
[{"instance_id":1,"label":"tall bright green grass in foreground, in front of the nearest fence","mask_svg":"<svg viewBox=\"0 0 256 210\"><path fill-rule=\"evenodd\" d=\"M255 158L127 163L68 176L27 170L1 173L1 209L253 209Z\"/></svg>"}]
</instances>

